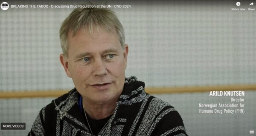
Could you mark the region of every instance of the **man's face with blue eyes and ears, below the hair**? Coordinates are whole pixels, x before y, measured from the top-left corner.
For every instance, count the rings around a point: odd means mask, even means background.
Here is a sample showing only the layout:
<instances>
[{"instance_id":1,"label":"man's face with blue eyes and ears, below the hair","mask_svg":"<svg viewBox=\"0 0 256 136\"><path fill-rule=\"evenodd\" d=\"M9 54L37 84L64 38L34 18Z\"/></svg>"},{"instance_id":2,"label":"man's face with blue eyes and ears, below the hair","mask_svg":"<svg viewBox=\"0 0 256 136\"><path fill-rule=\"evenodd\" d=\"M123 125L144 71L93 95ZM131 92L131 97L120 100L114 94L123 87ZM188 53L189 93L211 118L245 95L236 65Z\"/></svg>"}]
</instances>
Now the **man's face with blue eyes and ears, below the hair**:
<instances>
[{"instance_id":1,"label":"man's face with blue eyes and ears, below the hair","mask_svg":"<svg viewBox=\"0 0 256 136\"><path fill-rule=\"evenodd\" d=\"M61 63L77 91L93 102L118 100L125 82L128 45L123 49L116 33L102 29L87 34L78 31L68 35L68 59Z\"/></svg>"}]
</instances>

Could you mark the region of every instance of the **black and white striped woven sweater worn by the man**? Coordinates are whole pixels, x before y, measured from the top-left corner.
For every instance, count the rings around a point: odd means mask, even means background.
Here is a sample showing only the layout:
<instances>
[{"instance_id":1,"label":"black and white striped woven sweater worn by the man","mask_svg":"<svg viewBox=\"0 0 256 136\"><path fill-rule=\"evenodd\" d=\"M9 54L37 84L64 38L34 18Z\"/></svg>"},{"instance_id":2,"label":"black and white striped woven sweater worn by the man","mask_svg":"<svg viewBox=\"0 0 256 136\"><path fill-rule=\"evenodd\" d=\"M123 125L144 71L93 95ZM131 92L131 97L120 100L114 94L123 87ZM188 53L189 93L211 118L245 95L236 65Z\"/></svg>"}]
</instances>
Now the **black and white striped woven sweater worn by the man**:
<instances>
[{"instance_id":1,"label":"black and white striped woven sweater worn by the man","mask_svg":"<svg viewBox=\"0 0 256 136\"><path fill-rule=\"evenodd\" d=\"M136 77L125 79L113 116L98 136L187 136L175 108L146 94L144 86ZM92 136L75 88L42 108L29 136Z\"/></svg>"}]
</instances>

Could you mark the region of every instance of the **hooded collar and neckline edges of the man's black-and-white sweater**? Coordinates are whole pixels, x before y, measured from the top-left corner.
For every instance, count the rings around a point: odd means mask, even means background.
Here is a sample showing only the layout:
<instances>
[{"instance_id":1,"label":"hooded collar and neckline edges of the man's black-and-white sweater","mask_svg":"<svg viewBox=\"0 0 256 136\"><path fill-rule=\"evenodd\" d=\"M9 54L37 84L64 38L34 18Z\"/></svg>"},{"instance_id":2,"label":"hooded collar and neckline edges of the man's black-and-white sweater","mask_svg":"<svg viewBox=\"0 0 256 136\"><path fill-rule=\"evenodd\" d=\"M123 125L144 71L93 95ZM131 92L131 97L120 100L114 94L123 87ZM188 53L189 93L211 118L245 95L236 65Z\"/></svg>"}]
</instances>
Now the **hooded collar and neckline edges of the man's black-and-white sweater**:
<instances>
[{"instance_id":1,"label":"hooded collar and neckline edges of the man's black-and-white sweater","mask_svg":"<svg viewBox=\"0 0 256 136\"><path fill-rule=\"evenodd\" d=\"M138 81L134 76L125 78L124 88L122 94L119 96L119 101L116 102L116 108L113 116L110 119L110 123L108 123L104 129L110 129L111 125L113 125L114 122L112 121L116 116L119 105L131 105L133 103L143 101L146 95L144 87L145 83ZM60 113L61 119L66 120L73 125L74 128L79 128L80 130L85 131L84 133L88 134L89 129L87 125L85 125L86 123L81 111L79 110L79 96L80 94L76 91L76 88L74 88L68 93L67 99L64 99L59 103L53 100L55 103L55 110Z\"/></svg>"}]
</instances>

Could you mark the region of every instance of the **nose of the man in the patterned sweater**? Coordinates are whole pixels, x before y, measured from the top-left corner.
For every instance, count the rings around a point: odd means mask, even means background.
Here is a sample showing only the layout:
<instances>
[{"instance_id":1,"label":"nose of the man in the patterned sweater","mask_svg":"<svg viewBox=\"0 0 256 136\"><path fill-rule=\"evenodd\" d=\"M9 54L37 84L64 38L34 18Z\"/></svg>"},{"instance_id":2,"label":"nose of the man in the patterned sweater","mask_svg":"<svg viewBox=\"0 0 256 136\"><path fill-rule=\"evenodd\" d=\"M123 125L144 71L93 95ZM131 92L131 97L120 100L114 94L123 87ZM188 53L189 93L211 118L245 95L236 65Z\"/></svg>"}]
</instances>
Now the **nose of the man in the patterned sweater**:
<instances>
[{"instance_id":1,"label":"nose of the man in the patterned sweater","mask_svg":"<svg viewBox=\"0 0 256 136\"><path fill-rule=\"evenodd\" d=\"M107 74L107 67L104 61L102 59L96 59L93 62L93 75L94 76L103 76Z\"/></svg>"}]
</instances>

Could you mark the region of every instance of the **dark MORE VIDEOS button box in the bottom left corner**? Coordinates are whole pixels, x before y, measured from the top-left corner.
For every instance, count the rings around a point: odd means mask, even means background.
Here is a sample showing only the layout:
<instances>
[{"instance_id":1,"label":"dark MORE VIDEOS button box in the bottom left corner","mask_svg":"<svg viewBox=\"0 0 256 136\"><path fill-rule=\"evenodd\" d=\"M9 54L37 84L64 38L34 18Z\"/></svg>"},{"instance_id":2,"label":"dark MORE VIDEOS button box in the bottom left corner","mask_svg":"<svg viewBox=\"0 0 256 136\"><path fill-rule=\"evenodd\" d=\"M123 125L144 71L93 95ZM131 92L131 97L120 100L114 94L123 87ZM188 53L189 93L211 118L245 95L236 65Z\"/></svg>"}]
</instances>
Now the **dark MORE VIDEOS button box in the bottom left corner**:
<instances>
[{"instance_id":1,"label":"dark MORE VIDEOS button box in the bottom left corner","mask_svg":"<svg viewBox=\"0 0 256 136\"><path fill-rule=\"evenodd\" d=\"M26 130L26 123L1 123L1 130Z\"/></svg>"}]
</instances>

